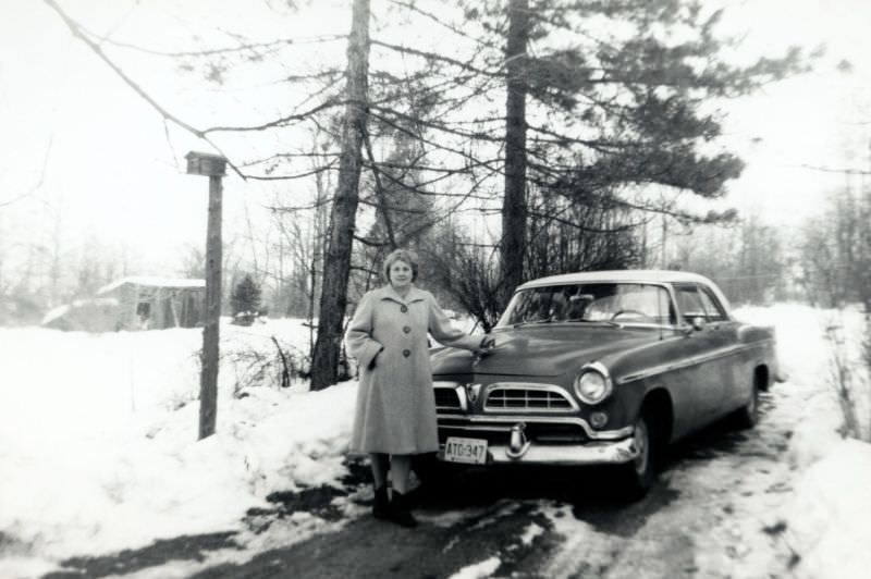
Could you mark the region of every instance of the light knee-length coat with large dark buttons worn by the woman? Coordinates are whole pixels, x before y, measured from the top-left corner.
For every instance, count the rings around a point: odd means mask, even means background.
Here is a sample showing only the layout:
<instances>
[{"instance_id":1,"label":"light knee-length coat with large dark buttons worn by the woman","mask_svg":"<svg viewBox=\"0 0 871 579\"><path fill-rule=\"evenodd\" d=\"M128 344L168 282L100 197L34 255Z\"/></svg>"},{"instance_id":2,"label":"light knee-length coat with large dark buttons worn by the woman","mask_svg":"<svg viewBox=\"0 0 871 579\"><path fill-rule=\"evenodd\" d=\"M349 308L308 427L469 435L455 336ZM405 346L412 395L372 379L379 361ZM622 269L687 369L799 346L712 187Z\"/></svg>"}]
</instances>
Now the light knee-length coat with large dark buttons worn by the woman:
<instances>
[{"instance_id":1,"label":"light knee-length coat with large dark buttons worn by the woman","mask_svg":"<svg viewBox=\"0 0 871 579\"><path fill-rule=\"evenodd\" d=\"M403 299L390 285L363 296L345 345L359 366L352 453L420 454L439 449L427 333L475 349L480 337L451 327L429 292Z\"/></svg>"}]
</instances>

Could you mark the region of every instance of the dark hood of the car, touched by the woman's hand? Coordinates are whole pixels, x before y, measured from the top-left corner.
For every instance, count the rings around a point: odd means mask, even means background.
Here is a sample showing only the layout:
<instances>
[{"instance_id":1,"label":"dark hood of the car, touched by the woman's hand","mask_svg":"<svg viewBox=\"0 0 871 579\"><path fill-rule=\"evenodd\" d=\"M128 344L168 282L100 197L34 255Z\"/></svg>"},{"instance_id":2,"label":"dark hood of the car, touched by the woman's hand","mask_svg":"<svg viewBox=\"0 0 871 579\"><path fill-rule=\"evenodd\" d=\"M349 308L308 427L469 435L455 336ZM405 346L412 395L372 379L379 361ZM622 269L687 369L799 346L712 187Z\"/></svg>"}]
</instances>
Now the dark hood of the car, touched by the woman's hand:
<instances>
[{"instance_id":1,"label":"dark hood of the car, touched by the woman's hand","mask_svg":"<svg viewBox=\"0 0 871 579\"><path fill-rule=\"evenodd\" d=\"M432 373L561 375L657 340L650 331L581 324L539 324L495 331L493 335L496 347L484 357L450 347L433 353Z\"/></svg>"}]
</instances>

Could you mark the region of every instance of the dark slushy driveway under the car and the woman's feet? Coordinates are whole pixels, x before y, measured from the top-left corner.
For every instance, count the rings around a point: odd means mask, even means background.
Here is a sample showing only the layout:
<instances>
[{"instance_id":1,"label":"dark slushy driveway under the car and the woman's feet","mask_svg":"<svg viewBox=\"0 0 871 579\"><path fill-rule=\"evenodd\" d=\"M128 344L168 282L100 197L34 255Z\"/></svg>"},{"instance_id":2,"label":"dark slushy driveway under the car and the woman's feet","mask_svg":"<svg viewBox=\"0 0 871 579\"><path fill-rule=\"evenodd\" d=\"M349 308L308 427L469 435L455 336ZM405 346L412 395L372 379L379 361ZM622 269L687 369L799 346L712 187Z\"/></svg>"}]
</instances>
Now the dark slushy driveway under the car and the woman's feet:
<instances>
[{"instance_id":1,"label":"dark slushy driveway under the car and the woman's feet","mask_svg":"<svg viewBox=\"0 0 871 579\"><path fill-rule=\"evenodd\" d=\"M47 577L783 577L796 557L777 519L795 476L785 460L794 418L777 402L798 394L775 387L756 430L720 423L673 447L637 503L623 502L599 469L470 469L417 496L420 526L407 530L368 515L366 471L356 468L347 494L287 493L273 497L277 509L252 513L256 550L233 533L179 538L71 559L70 572ZM304 521L330 522L286 535Z\"/></svg>"}]
</instances>

